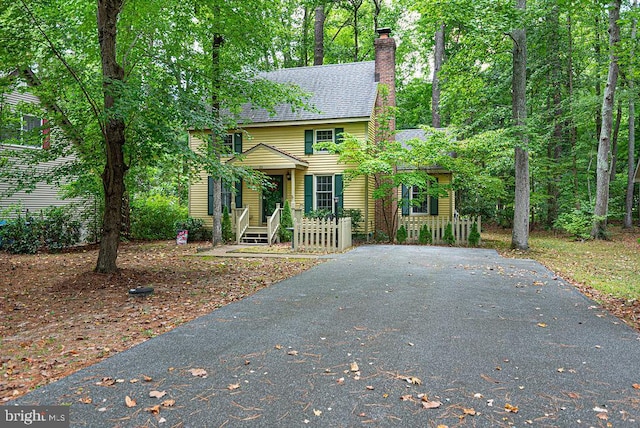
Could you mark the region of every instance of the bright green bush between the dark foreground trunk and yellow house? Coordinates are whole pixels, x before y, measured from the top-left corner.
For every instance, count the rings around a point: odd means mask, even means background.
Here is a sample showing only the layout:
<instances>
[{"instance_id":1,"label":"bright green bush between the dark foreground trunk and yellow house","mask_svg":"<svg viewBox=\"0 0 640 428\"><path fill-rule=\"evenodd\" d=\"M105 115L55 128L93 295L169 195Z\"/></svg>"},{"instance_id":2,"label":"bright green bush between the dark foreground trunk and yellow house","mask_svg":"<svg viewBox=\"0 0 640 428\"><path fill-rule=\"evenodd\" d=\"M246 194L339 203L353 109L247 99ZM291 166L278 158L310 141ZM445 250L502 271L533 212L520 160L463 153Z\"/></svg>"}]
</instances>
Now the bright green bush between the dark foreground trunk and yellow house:
<instances>
[{"instance_id":1,"label":"bright green bush between the dark foreground trunk and yellow house","mask_svg":"<svg viewBox=\"0 0 640 428\"><path fill-rule=\"evenodd\" d=\"M151 195L131 204L131 236L134 239L175 238L175 223L186 218L188 210L177 198Z\"/></svg>"}]
</instances>

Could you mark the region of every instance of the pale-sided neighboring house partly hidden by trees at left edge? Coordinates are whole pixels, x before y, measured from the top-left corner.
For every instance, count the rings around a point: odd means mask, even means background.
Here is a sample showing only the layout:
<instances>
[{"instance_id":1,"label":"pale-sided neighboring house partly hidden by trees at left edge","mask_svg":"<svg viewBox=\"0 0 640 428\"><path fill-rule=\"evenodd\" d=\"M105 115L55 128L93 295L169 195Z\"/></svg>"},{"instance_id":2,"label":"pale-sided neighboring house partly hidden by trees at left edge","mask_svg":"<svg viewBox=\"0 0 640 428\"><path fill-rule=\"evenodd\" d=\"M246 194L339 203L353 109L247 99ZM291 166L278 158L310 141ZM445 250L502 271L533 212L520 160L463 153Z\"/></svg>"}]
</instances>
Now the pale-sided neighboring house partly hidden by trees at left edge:
<instances>
[{"instance_id":1,"label":"pale-sided neighboring house partly hidden by trees at left edge","mask_svg":"<svg viewBox=\"0 0 640 428\"><path fill-rule=\"evenodd\" d=\"M47 150L51 144L55 144L55 141L51 139L50 129L46 128L46 120L20 111L20 106L24 106L25 103L39 104L40 100L33 94L15 89L10 93L0 93L0 110L4 110L3 113L5 113L2 117L5 119L11 117L12 119L11 121L0 120L1 168L7 168L7 166L2 165L2 160L10 157L12 153L26 150ZM28 143L24 141L22 138L25 135L24 133L36 128L42 128L40 138L35 139L36 141L30 138ZM69 161L73 161L73 158L65 157L41 162L36 166L36 169L40 175L47 171L53 171L54 168ZM21 166L20 162L15 164L11 162L8 167L20 168ZM26 169L27 167L24 166L24 168ZM21 214L25 214L28 211L34 215L50 206L74 206L78 207L78 210L81 208L95 208L93 202L83 198L63 199L57 186L45 182L37 183L35 188L28 191L21 190L9 196L7 191L11 187L13 186L7 182L6 178L0 177L0 224L3 220L17 216L16 210L12 209L15 207L20 207Z\"/></svg>"}]
</instances>

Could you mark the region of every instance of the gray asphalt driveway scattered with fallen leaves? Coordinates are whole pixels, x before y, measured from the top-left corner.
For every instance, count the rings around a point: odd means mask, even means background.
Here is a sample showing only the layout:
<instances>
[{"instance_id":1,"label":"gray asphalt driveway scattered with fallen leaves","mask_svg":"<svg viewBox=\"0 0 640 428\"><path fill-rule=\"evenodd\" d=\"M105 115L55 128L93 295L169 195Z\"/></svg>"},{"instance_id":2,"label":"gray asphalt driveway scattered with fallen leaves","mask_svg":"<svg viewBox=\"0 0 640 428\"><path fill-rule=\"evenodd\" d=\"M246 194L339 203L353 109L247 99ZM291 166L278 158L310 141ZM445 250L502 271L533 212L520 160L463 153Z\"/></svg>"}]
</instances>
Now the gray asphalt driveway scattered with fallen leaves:
<instances>
[{"instance_id":1,"label":"gray asphalt driveway scattered with fallen leaves","mask_svg":"<svg viewBox=\"0 0 640 428\"><path fill-rule=\"evenodd\" d=\"M540 264L364 246L10 404L71 404L73 427L619 427L639 384L640 334Z\"/></svg>"}]
</instances>

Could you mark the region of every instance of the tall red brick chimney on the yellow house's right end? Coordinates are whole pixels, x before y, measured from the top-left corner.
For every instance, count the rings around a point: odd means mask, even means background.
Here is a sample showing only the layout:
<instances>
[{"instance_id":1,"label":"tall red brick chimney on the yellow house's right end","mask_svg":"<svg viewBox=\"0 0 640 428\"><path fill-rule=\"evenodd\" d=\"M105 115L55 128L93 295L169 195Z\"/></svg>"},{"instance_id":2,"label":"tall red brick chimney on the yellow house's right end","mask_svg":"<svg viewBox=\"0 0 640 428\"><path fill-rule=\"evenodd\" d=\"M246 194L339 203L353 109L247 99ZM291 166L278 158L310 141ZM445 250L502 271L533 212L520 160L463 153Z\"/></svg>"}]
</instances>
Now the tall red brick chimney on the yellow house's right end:
<instances>
[{"instance_id":1,"label":"tall red brick chimney on the yellow house's right end","mask_svg":"<svg viewBox=\"0 0 640 428\"><path fill-rule=\"evenodd\" d=\"M396 106L396 41L391 37L391 29L389 28L380 28L376 32L379 37L374 41L376 48L375 81L385 85L388 89L386 97L381 96L380 91L378 91L375 113L379 115L384 107ZM389 123L386 124L388 129L382 129L380 125L376 119L376 142L393 141L396 130L395 117L391 116ZM377 231L383 231L389 237L395 236L398 212L397 193L397 189L394 189L384 199L376 200L376 233Z\"/></svg>"}]
</instances>

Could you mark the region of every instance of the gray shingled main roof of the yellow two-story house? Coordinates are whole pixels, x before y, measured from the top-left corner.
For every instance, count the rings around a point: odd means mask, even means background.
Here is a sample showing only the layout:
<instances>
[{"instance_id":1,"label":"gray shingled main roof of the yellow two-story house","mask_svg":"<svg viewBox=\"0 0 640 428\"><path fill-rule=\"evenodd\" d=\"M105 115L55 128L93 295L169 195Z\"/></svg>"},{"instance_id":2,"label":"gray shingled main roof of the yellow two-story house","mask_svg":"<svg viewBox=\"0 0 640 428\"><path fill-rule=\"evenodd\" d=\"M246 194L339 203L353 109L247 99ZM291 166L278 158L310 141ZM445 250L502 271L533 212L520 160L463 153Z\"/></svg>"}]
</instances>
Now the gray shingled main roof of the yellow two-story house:
<instances>
[{"instance_id":1,"label":"gray shingled main roof of the yellow two-story house","mask_svg":"<svg viewBox=\"0 0 640 428\"><path fill-rule=\"evenodd\" d=\"M293 112L290 105L276 107L275 115L262 108L243 108L245 124L303 120L368 118L373 112L377 83L375 62L355 62L313 67L285 68L262 73L260 77L291 83L311 94L311 111Z\"/></svg>"}]
</instances>

